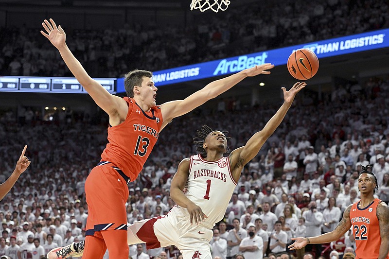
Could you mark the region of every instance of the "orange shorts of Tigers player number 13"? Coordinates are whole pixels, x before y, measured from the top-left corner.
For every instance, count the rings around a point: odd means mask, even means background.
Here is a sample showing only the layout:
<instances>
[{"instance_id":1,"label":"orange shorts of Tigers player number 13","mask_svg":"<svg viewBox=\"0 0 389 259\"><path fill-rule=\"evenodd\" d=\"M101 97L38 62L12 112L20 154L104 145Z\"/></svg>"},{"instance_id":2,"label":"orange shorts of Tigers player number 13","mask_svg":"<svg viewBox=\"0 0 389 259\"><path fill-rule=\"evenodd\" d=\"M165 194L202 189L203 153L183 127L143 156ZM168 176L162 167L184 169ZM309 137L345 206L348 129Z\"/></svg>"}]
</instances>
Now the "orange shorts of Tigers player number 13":
<instances>
[{"instance_id":1,"label":"orange shorts of Tigers player number 13","mask_svg":"<svg viewBox=\"0 0 389 259\"><path fill-rule=\"evenodd\" d=\"M85 182L88 204L86 235L96 231L127 230L127 182L112 164L96 166Z\"/></svg>"}]
</instances>

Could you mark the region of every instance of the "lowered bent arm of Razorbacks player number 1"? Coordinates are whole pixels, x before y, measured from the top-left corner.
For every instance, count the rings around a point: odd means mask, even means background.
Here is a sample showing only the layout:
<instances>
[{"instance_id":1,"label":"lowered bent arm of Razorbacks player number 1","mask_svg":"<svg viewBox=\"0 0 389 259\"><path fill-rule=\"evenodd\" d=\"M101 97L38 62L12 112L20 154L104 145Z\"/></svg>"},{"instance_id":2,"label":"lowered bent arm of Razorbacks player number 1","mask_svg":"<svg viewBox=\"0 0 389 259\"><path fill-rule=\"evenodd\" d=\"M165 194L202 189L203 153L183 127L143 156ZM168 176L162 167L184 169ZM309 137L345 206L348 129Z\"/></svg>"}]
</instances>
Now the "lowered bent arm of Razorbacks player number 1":
<instances>
[{"instance_id":1,"label":"lowered bent arm of Razorbacks player number 1","mask_svg":"<svg viewBox=\"0 0 389 259\"><path fill-rule=\"evenodd\" d=\"M177 173L174 175L172 184L170 186L170 197L177 203L178 206L184 207L188 210L191 218L197 225L200 221L207 218L200 207L189 200L182 190L185 188L186 181L189 176L190 158L185 158L179 163Z\"/></svg>"}]
</instances>

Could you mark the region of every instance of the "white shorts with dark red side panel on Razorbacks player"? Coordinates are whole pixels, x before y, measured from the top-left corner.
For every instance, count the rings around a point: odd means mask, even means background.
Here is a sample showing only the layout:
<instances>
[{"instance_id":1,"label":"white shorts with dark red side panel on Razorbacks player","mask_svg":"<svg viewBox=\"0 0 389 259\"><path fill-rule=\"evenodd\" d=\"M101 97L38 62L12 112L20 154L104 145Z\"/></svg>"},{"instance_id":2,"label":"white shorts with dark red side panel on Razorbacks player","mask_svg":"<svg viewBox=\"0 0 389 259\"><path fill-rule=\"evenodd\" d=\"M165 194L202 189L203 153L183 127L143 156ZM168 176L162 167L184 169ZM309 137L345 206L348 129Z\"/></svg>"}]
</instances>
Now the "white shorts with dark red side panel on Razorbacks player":
<instances>
[{"instance_id":1,"label":"white shorts with dark red side panel on Razorbacks player","mask_svg":"<svg viewBox=\"0 0 389 259\"><path fill-rule=\"evenodd\" d=\"M130 225L127 241L128 244L146 243L147 249L175 245L184 259L212 259L211 228L210 225L191 225L187 211L175 206L165 216Z\"/></svg>"}]
</instances>

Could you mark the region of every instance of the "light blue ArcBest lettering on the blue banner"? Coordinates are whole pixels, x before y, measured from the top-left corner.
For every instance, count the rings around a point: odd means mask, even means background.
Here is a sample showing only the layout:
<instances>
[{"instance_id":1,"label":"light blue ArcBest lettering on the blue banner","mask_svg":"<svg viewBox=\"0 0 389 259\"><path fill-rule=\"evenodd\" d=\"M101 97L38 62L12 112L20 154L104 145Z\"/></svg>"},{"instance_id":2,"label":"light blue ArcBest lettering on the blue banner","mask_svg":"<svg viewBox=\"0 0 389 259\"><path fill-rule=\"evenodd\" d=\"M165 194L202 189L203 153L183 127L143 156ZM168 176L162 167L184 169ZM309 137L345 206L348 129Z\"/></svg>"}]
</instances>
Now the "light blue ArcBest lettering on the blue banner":
<instances>
[{"instance_id":1,"label":"light blue ArcBest lettering on the blue banner","mask_svg":"<svg viewBox=\"0 0 389 259\"><path fill-rule=\"evenodd\" d=\"M267 58L267 52L263 52L261 55L248 57L246 55L240 56L237 59L232 59L227 61L227 59L222 59L217 65L217 68L213 72L213 75L222 75L226 73L233 73L242 71L243 69L249 69L255 65L262 65L265 63Z\"/></svg>"}]
</instances>

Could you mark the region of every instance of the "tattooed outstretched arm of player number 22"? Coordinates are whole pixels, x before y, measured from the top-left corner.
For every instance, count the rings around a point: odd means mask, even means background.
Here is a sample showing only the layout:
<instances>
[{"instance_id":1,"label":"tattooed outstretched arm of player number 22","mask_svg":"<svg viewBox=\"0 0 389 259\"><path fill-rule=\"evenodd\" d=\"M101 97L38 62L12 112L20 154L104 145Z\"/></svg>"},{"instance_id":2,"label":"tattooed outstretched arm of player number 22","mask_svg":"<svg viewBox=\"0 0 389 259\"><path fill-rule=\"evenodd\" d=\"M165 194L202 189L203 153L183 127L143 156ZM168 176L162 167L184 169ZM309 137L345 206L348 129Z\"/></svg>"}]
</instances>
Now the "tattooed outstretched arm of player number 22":
<instances>
[{"instance_id":1,"label":"tattooed outstretched arm of player number 22","mask_svg":"<svg viewBox=\"0 0 389 259\"><path fill-rule=\"evenodd\" d=\"M341 236L343 236L347 231L349 231L351 227L351 220L350 220L350 210L353 205L350 205L346 208L346 210L343 213L343 218L337 224L336 228L328 233L322 234L317 237L310 237L310 238L291 238L291 240L294 240L295 242L288 246L290 250L295 249L301 249L307 244L320 244L320 243L329 243L338 240Z\"/></svg>"}]
</instances>

